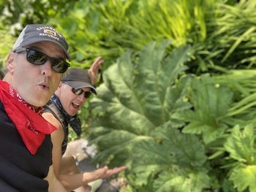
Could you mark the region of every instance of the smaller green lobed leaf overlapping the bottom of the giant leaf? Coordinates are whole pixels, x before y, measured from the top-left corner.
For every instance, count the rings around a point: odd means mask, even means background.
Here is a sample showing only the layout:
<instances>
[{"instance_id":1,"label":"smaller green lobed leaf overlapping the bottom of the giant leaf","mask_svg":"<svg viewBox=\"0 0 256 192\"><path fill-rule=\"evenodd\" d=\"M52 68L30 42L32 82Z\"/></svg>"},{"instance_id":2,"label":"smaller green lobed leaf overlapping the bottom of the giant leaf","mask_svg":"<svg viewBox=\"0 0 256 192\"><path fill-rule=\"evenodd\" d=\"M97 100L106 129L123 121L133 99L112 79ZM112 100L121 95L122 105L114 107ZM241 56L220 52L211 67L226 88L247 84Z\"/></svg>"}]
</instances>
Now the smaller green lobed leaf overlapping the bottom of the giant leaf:
<instances>
[{"instance_id":1,"label":"smaller green lobed leaf overlapping the bottom of the giant leaf","mask_svg":"<svg viewBox=\"0 0 256 192\"><path fill-rule=\"evenodd\" d=\"M203 145L200 144L197 137L181 134L170 125L171 123L165 123L154 131L157 137L164 138L162 142L144 140L135 145L132 172L137 176L136 183L138 185L146 185L149 177L161 181L162 179L158 178L158 175L166 171L172 172L172 177L169 180L172 180L173 177L189 177L191 172L201 174L203 164L206 162ZM207 171L204 170L203 174L206 173ZM205 177L208 178L207 174ZM178 182L182 183L182 180ZM195 185L195 183L191 185Z\"/></svg>"}]
</instances>

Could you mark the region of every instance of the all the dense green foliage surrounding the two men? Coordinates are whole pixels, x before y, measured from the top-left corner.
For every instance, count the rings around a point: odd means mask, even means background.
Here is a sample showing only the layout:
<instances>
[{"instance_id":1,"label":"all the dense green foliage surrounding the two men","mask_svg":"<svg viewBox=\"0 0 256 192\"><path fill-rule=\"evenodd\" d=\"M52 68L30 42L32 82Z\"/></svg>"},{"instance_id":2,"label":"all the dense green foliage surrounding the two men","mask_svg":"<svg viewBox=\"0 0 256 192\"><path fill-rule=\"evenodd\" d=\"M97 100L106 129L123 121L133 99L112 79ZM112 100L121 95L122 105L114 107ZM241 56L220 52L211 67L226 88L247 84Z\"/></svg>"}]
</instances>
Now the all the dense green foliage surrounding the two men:
<instances>
[{"instance_id":1,"label":"all the dense green foliage surrounding the two men","mask_svg":"<svg viewBox=\"0 0 256 192\"><path fill-rule=\"evenodd\" d=\"M105 60L99 95L80 117L95 161L129 166L125 191L254 192L255 8L254 0L2 0L1 64L27 23L56 26L72 66Z\"/></svg>"}]
</instances>

